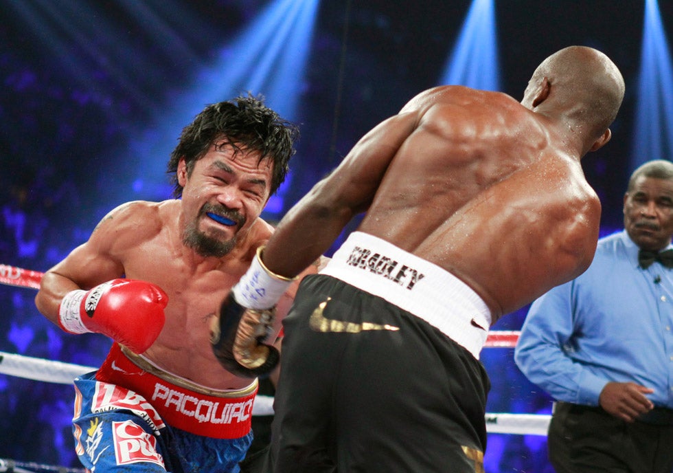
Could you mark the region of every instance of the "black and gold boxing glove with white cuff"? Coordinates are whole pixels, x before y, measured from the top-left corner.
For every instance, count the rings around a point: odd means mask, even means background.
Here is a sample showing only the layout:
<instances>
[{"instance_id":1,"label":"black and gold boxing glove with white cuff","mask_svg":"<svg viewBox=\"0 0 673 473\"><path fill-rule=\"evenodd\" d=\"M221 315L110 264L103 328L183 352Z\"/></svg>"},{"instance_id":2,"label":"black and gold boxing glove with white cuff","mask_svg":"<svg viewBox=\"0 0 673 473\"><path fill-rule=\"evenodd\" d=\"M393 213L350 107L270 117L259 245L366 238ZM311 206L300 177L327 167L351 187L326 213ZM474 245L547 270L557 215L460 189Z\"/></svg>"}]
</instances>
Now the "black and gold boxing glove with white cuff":
<instances>
[{"instance_id":1,"label":"black and gold boxing glove with white cuff","mask_svg":"<svg viewBox=\"0 0 673 473\"><path fill-rule=\"evenodd\" d=\"M263 246L231 289L214 320L211 344L227 371L241 377L266 376L280 355L264 340L271 334L275 305L296 278L275 274L262 263Z\"/></svg>"}]
</instances>

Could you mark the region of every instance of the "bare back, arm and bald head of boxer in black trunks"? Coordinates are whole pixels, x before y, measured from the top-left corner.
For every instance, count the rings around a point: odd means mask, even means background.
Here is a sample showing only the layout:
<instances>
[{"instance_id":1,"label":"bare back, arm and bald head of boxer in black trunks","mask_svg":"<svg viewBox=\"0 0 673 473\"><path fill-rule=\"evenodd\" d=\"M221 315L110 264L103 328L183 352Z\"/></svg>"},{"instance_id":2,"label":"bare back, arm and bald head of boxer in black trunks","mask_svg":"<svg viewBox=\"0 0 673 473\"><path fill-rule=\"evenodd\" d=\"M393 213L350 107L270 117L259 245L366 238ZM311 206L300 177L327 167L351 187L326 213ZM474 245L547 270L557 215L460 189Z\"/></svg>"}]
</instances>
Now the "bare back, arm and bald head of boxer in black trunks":
<instances>
[{"instance_id":1,"label":"bare back, arm and bald head of boxer in black trunks","mask_svg":"<svg viewBox=\"0 0 673 473\"><path fill-rule=\"evenodd\" d=\"M581 74L566 72L566 56ZM493 323L584 272L601 209L580 159L610 139L624 82L589 48L543 65L521 103L459 86L413 98L286 214L266 266L297 274L365 212L359 231L461 278Z\"/></svg>"}]
</instances>

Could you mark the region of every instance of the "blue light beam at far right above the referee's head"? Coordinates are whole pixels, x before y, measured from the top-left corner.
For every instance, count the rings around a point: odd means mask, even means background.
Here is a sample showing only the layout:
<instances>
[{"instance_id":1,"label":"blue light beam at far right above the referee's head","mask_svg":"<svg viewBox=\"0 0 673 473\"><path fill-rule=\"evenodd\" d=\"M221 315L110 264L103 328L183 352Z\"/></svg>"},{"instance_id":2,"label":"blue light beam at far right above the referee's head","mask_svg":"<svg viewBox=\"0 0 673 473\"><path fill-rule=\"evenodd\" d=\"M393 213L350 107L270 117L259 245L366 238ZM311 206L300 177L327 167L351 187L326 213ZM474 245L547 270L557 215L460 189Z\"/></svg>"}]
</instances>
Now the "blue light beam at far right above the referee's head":
<instances>
[{"instance_id":1,"label":"blue light beam at far right above the referee's head","mask_svg":"<svg viewBox=\"0 0 673 473\"><path fill-rule=\"evenodd\" d=\"M646 0L631 168L673 160L673 67L657 0Z\"/></svg>"}]
</instances>

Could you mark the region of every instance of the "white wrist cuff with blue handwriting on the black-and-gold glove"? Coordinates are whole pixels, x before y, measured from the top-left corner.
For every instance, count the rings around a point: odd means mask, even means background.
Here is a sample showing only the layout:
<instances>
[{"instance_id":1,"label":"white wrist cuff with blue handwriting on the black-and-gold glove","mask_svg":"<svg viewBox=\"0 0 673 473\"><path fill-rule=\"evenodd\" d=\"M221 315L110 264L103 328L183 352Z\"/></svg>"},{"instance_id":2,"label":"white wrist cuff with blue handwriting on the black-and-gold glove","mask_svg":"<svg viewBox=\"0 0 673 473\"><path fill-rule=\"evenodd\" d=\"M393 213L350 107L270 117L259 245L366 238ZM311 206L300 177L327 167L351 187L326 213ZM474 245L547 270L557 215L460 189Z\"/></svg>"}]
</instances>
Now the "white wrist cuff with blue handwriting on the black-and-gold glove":
<instances>
[{"instance_id":1,"label":"white wrist cuff with blue handwriting on the black-and-gold glove","mask_svg":"<svg viewBox=\"0 0 673 473\"><path fill-rule=\"evenodd\" d=\"M264 247L257 250L252 264L231 289L236 302L248 309L271 309L296 278L285 278L269 271L262 263Z\"/></svg>"}]
</instances>

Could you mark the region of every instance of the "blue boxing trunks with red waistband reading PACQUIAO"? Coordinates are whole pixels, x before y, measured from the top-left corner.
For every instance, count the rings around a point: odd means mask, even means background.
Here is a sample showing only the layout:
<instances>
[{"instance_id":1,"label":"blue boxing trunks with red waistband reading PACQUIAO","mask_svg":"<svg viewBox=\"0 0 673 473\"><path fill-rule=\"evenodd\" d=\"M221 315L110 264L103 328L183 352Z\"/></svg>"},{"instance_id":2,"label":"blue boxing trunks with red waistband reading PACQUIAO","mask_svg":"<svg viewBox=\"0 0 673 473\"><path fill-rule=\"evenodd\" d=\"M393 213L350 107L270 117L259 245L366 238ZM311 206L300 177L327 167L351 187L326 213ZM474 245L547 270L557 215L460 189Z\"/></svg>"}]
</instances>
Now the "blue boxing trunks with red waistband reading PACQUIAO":
<instances>
[{"instance_id":1,"label":"blue boxing trunks with red waistband reading PACQUIAO","mask_svg":"<svg viewBox=\"0 0 673 473\"><path fill-rule=\"evenodd\" d=\"M236 391L190 385L115 343L98 371L75 380L76 452L93 471L236 473L257 389L256 380Z\"/></svg>"}]
</instances>

